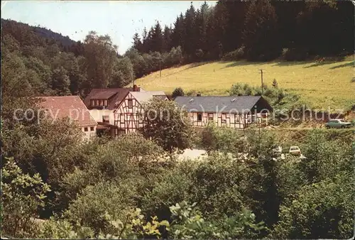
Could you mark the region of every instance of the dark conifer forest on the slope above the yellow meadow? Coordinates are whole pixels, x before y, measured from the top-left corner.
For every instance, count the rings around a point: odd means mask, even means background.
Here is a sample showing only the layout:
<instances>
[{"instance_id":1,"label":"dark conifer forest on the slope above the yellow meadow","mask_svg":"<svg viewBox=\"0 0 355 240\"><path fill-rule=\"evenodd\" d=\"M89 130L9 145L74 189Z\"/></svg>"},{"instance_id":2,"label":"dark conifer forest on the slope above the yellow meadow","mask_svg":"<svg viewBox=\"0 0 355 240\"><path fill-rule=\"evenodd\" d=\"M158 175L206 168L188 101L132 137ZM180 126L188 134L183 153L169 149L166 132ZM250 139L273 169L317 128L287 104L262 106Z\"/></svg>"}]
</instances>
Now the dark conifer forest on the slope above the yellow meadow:
<instances>
[{"instance_id":1,"label":"dark conifer forest on the slope above the yellow meadow","mask_svg":"<svg viewBox=\"0 0 355 240\"><path fill-rule=\"evenodd\" d=\"M133 48L141 59L154 56L163 67L172 48L182 51L180 62L202 60L267 61L339 57L354 51L354 6L350 1L218 1L216 6L190 6L173 26L156 23ZM138 62L138 54L132 58ZM147 60L142 61L144 65ZM156 64L158 66L158 63ZM158 66L159 67L159 66ZM155 70L158 67L153 67ZM135 65L136 76L152 72Z\"/></svg>"}]
</instances>

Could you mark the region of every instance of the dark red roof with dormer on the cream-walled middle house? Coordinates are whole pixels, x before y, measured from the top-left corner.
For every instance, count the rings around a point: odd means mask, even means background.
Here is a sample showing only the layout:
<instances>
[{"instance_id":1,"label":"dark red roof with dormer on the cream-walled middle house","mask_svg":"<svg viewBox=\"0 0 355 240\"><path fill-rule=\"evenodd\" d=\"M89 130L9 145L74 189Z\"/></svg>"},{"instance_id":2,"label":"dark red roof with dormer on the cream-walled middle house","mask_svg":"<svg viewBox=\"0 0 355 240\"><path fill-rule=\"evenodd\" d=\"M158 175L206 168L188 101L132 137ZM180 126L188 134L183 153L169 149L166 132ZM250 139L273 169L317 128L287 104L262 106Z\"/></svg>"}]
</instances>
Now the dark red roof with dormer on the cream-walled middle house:
<instances>
[{"instance_id":1,"label":"dark red roof with dormer on the cream-walled middle house","mask_svg":"<svg viewBox=\"0 0 355 240\"><path fill-rule=\"evenodd\" d=\"M108 104L106 109L115 109L116 103L119 104L126 94L133 91L132 87L121 87L121 88L94 88L91 90L89 95L85 97L84 104L88 109L92 109L90 106L91 99L108 99ZM141 88L138 87L138 91Z\"/></svg>"}]
</instances>

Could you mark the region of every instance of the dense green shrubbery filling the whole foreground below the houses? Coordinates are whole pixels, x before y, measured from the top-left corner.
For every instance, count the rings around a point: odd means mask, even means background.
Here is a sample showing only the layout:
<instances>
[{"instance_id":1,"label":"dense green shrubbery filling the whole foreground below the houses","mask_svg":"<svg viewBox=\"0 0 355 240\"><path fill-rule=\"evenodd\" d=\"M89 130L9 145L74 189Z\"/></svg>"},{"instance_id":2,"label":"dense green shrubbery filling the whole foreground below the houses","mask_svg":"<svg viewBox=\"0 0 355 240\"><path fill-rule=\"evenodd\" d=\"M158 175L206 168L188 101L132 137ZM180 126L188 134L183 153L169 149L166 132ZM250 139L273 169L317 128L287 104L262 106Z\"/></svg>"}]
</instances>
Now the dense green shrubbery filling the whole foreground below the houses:
<instances>
[{"instance_id":1,"label":"dense green shrubbery filling the whole foreground below the houses","mask_svg":"<svg viewBox=\"0 0 355 240\"><path fill-rule=\"evenodd\" d=\"M307 134L301 146L305 160L292 156L275 160L272 149L280 143L271 132L249 129L241 136L234 129L209 126L202 138L209 150L207 159L178 162L154 141L130 135L77 146L75 136L67 136L58 153L50 156L45 151L55 146L50 139L66 134L43 129L39 137L35 129L15 126L1 132L2 156L16 156L19 164L26 159L23 172L38 174L24 175L11 160L2 166L3 234L109 239L351 235L351 147L342 138L329 138L334 136L329 131ZM9 140L23 134L34 145L11 148ZM207 135L214 140L209 141ZM40 143L44 136L48 141ZM38 144L43 147L37 148ZM46 165L33 168L40 159ZM38 187L28 188L28 181ZM51 192L47 192L48 183ZM52 216L45 223L35 220L40 204L47 209L45 215ZM21 217L16 209L24 211ZM37 224L23 225L28 221ZM33 231L33 227L38 229Z\"/></svg>"}]
</instances>

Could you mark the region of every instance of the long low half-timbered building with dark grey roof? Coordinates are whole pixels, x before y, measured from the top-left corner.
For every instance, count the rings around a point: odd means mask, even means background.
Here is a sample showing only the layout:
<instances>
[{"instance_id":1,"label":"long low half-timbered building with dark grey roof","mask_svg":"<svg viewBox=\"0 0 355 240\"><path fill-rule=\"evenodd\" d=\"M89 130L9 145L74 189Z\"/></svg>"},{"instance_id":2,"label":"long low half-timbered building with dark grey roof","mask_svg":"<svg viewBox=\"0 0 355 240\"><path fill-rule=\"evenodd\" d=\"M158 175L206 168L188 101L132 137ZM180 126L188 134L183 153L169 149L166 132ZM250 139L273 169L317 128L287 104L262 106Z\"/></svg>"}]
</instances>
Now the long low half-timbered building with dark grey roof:
<instances>
[{"instance_id":1,"label":"long low half-timbered building with dark grey roof","mask_svg":"<svg viewBox=\"0 0 355 240\"><path fill-rule=\"evenodd\" d=\"M250 124L267 124L273 110L263 97L197 96L176 97L178 106L188 112L193 126L217 126L245 129Z\"/></svg>"}]
</instances>

